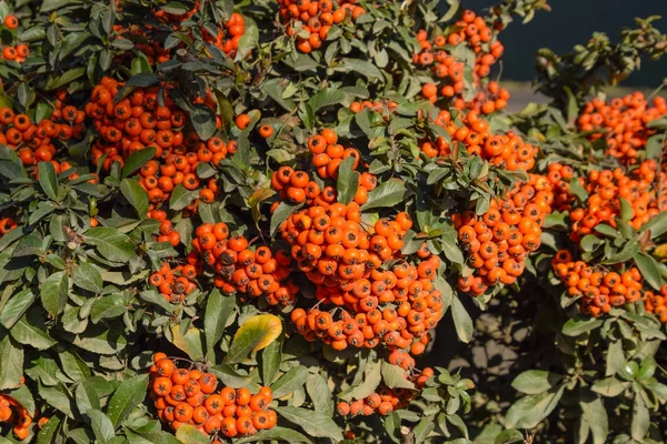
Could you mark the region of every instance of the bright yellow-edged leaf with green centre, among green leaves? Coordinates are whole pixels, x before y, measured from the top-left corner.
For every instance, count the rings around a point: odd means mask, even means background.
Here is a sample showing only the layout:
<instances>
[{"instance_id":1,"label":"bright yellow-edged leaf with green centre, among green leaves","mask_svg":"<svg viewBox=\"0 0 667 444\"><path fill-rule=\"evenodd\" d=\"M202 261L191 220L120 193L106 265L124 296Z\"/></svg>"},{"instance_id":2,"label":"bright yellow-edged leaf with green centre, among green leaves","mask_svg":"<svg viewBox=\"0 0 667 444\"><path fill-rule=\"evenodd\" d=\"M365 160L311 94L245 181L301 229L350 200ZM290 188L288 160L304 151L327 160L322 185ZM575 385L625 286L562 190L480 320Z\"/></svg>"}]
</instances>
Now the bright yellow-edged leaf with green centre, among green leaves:
<instances>
[{"instance_id":1,"label":"bright yellow-edged leaf with green centre, among green leaves","mask_svg":"<svg viewBox=\"0 0 667 444\"><path fill-rule=\"evenodd\" d=\"M257 352L273 342L282 332L280 317L272 314L258 314L247 320L233 335L233 341L225 362L237 364L250 353Z\"/></svg>"}]
</instances>

